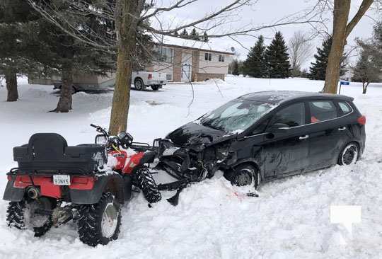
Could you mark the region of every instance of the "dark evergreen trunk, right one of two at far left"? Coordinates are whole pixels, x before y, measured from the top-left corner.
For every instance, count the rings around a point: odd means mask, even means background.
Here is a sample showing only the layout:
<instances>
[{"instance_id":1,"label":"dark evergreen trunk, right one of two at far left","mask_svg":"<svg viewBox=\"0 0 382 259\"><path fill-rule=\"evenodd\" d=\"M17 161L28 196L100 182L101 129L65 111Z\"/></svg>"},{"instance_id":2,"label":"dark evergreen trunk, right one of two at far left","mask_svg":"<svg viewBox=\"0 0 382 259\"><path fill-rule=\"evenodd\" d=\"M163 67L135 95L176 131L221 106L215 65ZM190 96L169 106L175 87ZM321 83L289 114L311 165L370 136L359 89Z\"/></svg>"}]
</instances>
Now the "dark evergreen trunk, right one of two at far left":
<instances>
[{"instance_id":1,"label":"dark evergreen trunk, right one of two at far left","mask_svg":"<svg viewBox=\"0 0 382 259\"><path fill-rule=\"evenodd\" d=\"M59 96L59 102L57 103L57 108L52 110L54 113L69 113L71 110L71 94L73 93L73 69L71 62L64 64L62 66L61 72L61 93Z\"/></svg>"}]
</instances>

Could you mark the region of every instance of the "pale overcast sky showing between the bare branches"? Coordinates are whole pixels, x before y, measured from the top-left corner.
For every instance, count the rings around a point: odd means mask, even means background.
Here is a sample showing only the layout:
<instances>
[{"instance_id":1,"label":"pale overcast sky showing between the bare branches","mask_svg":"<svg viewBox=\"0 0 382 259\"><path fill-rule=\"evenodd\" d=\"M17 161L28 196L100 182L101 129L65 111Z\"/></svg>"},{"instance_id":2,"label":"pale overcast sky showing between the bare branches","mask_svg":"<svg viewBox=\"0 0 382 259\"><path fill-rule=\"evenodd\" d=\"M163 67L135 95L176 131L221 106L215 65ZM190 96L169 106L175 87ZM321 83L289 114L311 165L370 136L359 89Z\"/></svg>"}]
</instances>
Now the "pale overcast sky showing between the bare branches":
<instances>
[{"instance_id":1,"label":"pale overcast sky showing between the bare branches","mask_svg":"<svg viewBox=\"0 0 382 259\"><path fill-rule=\"evenodd\" d=\"M199 0L194 4L187 6L185 8L180 8L174 11L166 12L161 16L161 21L163 25L166 27L169 24L176 23L185 23L187 21L194 21L195 18L200 18L204 16L205 13L211 13L212 11L218 9L224 4L231 3L232 0ZM314 4L316 4L317 0L258 0L253 6L245 6L241 8L240 13L235 16L230 24L221 25L221 27L216 28L214 33L219 33L222 30L229 30L230 28L243 28L245 25L265 25L272 23L274 21L278 21L280 18L284 18L289 16L292 13L296 13L303 10L308 10ZM173 3L174 0L157 0L158 6L168 6L170 3ZM361 4L361 0L352 0L352 9L350 11L349 17L354 16L354 13L357 11L359 4ZM367 16L364 16L359 24L354 28L352 34L349 35L348 45L354 45L354 38L369 38L373 31L374 21L373 18L376 19L378 16L382 18L382 13L376 13L376 11L369 10ZM330 17L330 13L326 16ZM156 22L153 21L154 25ZM328 26L329 33L332 30L332 20L328 21L325 24ZM294 34L296 30L302 30L309 35L313 35L313 29L311 25L301 24L301 25L284 25L278 28L261 30L257 33L253 33L254 35L264 35L266 40L266 44L272 40L274 36L274 32L276 30L280 30L284 35L286 42L289 41L289 38ZM212 32L213 33L213 32ZM210 33L210 34L212 34ZM238 36L236 38L241 45L241 47L237 42L229 38L224 38L219 40L219 44L224 42L224 44L232 45L236 47L238 54L240 54L240 59L245 59L247 50L246 48L250 48L255 43L255 38L249 36ZM319 46L323 39L323 35L318 35L318 37L312 40L313 45ZM314 47L313 52L316 52L316 48ZM355 54L355 53L354 53ZM313 54L312 54L313 56ZM304 67L308 67L310 62L307 62Z\"/></svg>"}]
</instances>

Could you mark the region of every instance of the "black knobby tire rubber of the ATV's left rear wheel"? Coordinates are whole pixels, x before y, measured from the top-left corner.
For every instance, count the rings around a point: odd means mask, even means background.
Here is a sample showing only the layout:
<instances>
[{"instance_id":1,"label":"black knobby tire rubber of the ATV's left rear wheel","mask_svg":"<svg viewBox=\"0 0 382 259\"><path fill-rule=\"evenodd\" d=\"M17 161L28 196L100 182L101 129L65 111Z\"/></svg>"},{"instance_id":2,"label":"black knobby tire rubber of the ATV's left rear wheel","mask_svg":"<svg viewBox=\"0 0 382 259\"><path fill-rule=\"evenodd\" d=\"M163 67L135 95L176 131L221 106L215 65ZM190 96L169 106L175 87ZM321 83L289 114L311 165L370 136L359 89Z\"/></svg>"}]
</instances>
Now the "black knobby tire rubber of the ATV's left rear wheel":
<instances>
[{"instance_id":1,"label":"black knobby tire rubber of the ATV's left rear wheel","mask_svg":"<svg viewBox=\"0 0 382 259\"><path fill-rule=\"evenodd\" d=\"M50 208L52 209L51 205ZM25 200L21 202L9 202L8 209L6 210L6 222L9 227L15 227L16 229L28 229L28 227L33 227L33 232L35 232L35 236L43 236L47 231L52 227L52 216L49 216L47 221L42 224L42 226L35 227L28 224L28 216L30 208L28 208L28 203Z\"/></svg>"}]
</instances>

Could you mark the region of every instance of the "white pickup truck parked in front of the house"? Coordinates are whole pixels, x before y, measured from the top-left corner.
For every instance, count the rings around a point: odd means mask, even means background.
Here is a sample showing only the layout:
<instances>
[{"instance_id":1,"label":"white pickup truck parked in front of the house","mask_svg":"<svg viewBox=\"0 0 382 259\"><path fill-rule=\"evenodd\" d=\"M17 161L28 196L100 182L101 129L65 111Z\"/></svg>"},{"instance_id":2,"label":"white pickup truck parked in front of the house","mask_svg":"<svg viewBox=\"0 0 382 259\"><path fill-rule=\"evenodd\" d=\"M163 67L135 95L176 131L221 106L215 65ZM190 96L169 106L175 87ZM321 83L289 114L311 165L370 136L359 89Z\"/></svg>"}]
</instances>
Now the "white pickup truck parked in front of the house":
<instances>
[{"instance_id":1,"label":"white pickup truck parked in front of the house","mask_svg":"<svg viewBox=\"0 0 382 259\"><path fill-rule=\"evenodd\" d=\"M147 86L156 91L167 84L167 74L161 72L139 71L132 73L132 84L138 91L144 90Z\"/></svg>"}]
</instances>

